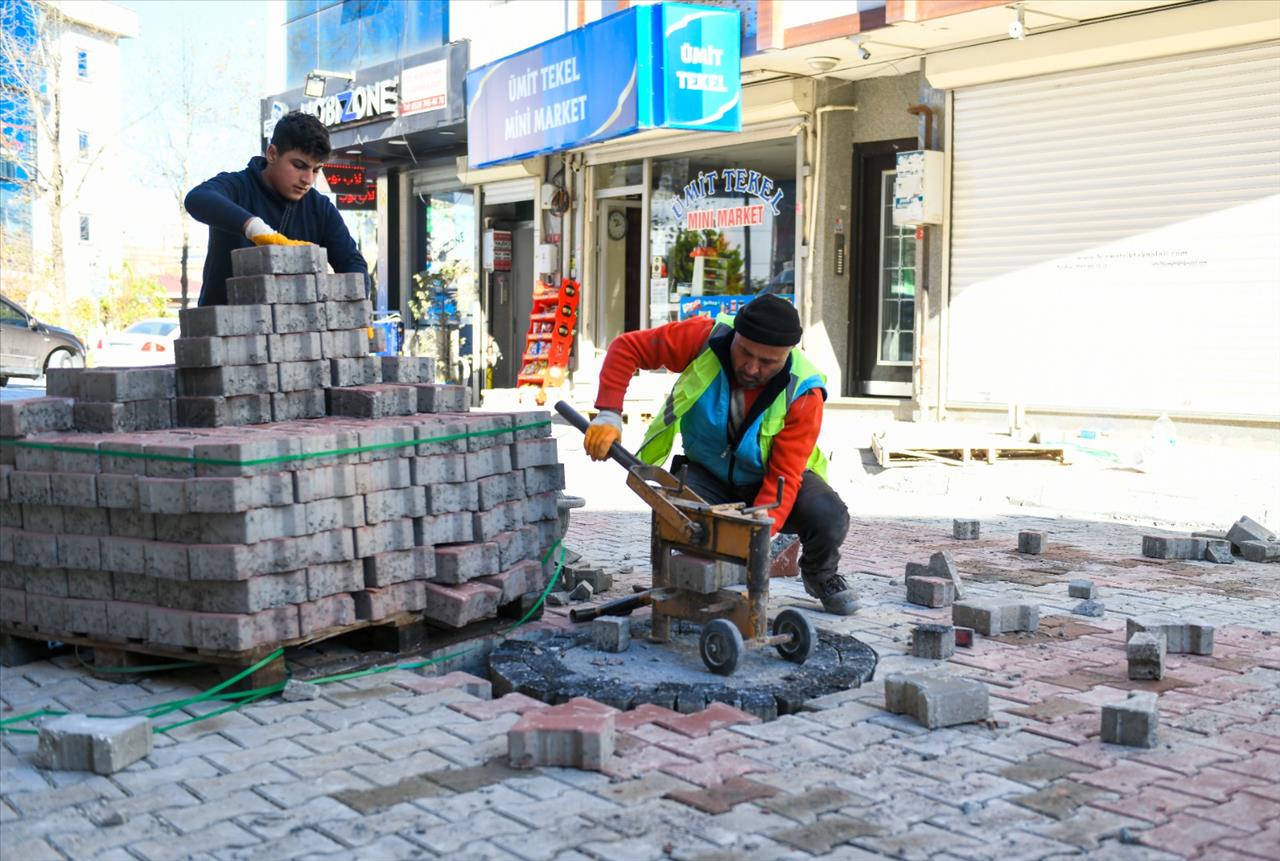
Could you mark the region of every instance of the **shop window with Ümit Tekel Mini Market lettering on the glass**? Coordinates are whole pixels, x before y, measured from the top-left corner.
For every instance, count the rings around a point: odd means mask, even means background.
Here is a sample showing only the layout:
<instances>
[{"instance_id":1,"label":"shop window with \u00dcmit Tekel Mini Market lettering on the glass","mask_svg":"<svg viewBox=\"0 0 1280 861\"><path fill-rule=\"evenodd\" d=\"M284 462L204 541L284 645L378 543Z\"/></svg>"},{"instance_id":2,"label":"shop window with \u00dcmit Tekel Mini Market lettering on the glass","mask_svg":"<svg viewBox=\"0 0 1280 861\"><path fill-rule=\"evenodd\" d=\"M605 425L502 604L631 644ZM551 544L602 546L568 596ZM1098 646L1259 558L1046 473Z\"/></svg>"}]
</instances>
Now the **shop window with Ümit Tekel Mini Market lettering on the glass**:
<instances>
[{"instance_id":1,"label":"shop window with \u00dcmit Tekel Mini Market lettering on the glass","mask_svg":"<svg viewBox=\"0 0 1280 861\"><path fill-rule=\"evenodd\" d=\"M795 301L795 138L654 159L650 321Z\"/></svg>"}]
</instances>

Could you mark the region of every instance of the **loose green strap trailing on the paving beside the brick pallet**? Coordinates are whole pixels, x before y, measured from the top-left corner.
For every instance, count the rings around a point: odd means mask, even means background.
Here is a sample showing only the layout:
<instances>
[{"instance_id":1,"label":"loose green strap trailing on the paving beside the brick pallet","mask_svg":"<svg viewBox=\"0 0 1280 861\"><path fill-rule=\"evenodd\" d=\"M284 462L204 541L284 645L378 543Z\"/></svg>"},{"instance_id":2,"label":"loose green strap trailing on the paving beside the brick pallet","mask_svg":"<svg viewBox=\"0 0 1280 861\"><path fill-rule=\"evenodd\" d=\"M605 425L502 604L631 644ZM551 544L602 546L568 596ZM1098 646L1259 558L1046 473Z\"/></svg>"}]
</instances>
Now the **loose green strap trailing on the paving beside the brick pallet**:
<instances>
[{"instance_id":1,"label":"loose green strap trailing on the paving beside the brick pallet","mask_svg":"<svg viewBox=\"0 0 1280 861\"><path fill-rule=\"evenodd\" d=\"M506 430L512 430L512 429L506 429ZM531 608L529 608L529 612L525 613L525 615L522 615L518 622L516 622L513 626L511 626L509 628L507 628L506 631L502 632L503 636L509 635L512 631L515 631L516 628L518 628L522 624L525 624L526 622L529 622L530 617L534 613L538 612L538 608L540 608L547 601L547 596L550 595L550 591L552 591L552 588L554 588L556 583L559 582L561 572L564 569L564 545L559 540L557 540L556 544L553 544L550 548L548 548L547 553L543 554L541 562L543 562L543 564L545 564L547 560L552 558L552 554L556 553L557 548L559 548L559 558L556 560L556 572L552 574L549 582L547 583L547 588L543 590L541 595L538 596L538 601ZM360 678L362 675L376 675L376 674L380 674L380 673L389 673L389 672L392 672L394 669L420 669L422 667L430 667L431 664L439 664L439 663L443 663L443 661L447 661L447 660L452 660L454 658L461 658L462 655L470 654L470 652L475 651L479 647L480 647L479 645L468 646L467 649L463 649L461 651L454 651L454 652L451 652L448 655L440 655L438 658L429 658L426 660L410 661L407 664L390 664L389 667L374 667L371 669L353 670L351 673L338 673L335 675L324 675L321 678L310 679L310 683L311 684L329 684L332 682L346 682L348 679ZM225 682L215 684L214 687L209 688L207 691L204 691L202 693L197 693L196 696L191 696L191 697L183 697L180 700L173 700L170 702L161 702L159 705L154 705L154 706L150 706L150 707L146 707L146 709L136 709L136 710L131 711L129 714L131 715L142 715L142 716L151 718L152 720L155 720L156 718L163 718L163 716L165 716L168 714L172 714L174 711L179 711L179 710L189 707L192 705L197 705L200 702L209 702L209 701L215 701L215 700L216 701L232 700L232 702L229 702L228 705L223 706L221 709L215 709L215 710L209 711L206 714L196 715L195 718L188 718L187 720L179 720L177 723L165 724L163 727L155 727L154 728L154 732L166 733L166 732L170 732L173 729L178 729L179 727L186 727L188 724L198 723L201 720L207 720L209 718L215 718L215 716L218 716L220 714L225 714L228 711L234 711L236 709L239 709L242 706L250 705L252 702L257 702L259 700L261 700L264 697L268 697L268 696L270 696L273 693L278 693L279 691L284 690L284 684L285 683L280 682L278 684L269 684L266 687L253 688L251 691L237 691L237 692L232 692L232 693L224 693L224 691L228 687L230 687L232 684L236 684L236 682L239 682L246 675L256 673L257 670L262 669L264 667L268 667L273 661L280 660L283 658L284 658L284 649L276 649L270 655L268 655L262 660L257 661L252 667L248 667L248 668L243 669L242 672L237 673L236 675L233 675L232 678L227 679ZM81 661L81 663L83 663L83 661ZM132 673L142 673L142 672L155 670L157 668L160 668L160 669L177 669L178 667L183 667L186 664L195 664L195 663L196 661L180 661L178 664L157 664L157 665L152 665L152 667L110 668L110 669L99 670L99 672L113 672L113 673L131 673L132 672ZM29 722L36 720L38 718L56 718L56 716L61 716L61 715L65 715L65 714L69 714L69 713L68 711L61 711L61 710L58 710L58 709L38 709L36 711L27 711L26 714L14 715L12 718L5 718L5 719L0 720L0 733L13 733L13 734L19 734L19 736L35 736L35 734L37 734L40 732L38 729L26 729L26 728L20 728L20 727L14 727L13 724L29 723ZM88 715L88 716L91 716L91 718L118 718L120 715Z\"/></svg>"}]
</instances>

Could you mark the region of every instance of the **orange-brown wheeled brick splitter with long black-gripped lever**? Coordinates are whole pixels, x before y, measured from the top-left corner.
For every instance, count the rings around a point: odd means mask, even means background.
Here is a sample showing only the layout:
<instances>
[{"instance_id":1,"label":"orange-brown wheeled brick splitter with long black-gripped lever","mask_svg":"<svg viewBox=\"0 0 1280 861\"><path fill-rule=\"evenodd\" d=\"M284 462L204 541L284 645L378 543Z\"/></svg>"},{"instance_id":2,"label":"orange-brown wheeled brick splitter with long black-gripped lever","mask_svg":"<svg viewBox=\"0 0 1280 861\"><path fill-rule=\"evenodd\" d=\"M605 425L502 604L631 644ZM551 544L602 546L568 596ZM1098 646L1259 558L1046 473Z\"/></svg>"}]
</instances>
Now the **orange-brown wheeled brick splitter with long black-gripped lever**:
<instances>
[{"instance_id":1,"label":"orange-brown wheeled brick splitter with long black-gripped lever","mask_svg":"<svg viewBox=\"0 0 1280 861\"><path fill-rule=\"evenodd\" d=\"M563 400L556 404L570 425L586 432L588 421ZM599 606L570 613L573 622L602 615L630 615L641 606L653 608L649 640L669 642L671 619L701 623L698 651L713 673L730 675L746 649L773 646L788 661L803 664L818 644L813 623L800 612L786 609L768 627L769 532L765 512L782 503L783 480L778 478L777 500L768 505L745 503L712 504L662 467L649 466L620 443L609 448L609 459L627 471L627 486L653 509L653 586ZM689 553L746 568L746 594L732 588L700 592L672 583L671 554Z\"/></svg>"}]
</instances>

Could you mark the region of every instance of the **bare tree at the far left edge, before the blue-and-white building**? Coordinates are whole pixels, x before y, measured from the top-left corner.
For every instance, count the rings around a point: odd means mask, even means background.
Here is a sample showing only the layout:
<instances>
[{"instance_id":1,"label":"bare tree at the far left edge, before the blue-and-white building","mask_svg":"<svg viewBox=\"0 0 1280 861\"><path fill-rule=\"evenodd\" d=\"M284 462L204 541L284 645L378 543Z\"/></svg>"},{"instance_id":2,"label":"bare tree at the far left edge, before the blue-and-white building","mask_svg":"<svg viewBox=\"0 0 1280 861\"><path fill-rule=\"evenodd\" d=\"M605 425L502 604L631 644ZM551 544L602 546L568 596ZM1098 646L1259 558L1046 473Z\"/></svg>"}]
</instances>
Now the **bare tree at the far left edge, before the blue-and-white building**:
<instances>
[{"instance_id":1,"label":"bare tree at the far left edge, before the blue-and-white building","mask_svg":"<svg viewBox=\"0 0 1280 861\"><path fill-rule=\"evenodd\" d=\"M50 279L60 306L67 301L61 255L67 198L61 78L67 28L67 18L47 3L5 0L0 4L0 86L5 91L6 113L12 114L5 118L8 129L0 136L0 148L4 161L15 168L10 182L20 189L20 196L27 201L42 200L49 209L54 249ZM47 159L38 157L41 142L47 145ZM8 228L0 225L0 229ZM8 248L14 238L5 239Z\"/></svg>"}]
</instances>

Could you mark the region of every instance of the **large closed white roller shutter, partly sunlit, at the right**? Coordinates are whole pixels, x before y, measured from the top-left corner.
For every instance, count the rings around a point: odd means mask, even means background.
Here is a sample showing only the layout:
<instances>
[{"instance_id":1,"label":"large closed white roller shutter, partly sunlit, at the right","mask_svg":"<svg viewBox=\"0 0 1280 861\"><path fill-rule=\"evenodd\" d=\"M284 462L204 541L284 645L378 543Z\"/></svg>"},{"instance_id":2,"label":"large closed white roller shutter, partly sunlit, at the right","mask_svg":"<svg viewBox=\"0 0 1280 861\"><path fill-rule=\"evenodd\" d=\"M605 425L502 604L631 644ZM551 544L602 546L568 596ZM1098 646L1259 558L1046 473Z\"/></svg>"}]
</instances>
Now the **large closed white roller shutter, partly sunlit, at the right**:
<instances>
[{"instance_id":1,"label":"large closed white roller shutter, partly sunlit, at the right","mask_svg":"<svg viewBox=\"0 0 1280 861\"><path fill-rule=\"evenodd\" d=\"M1280 45L954 116L948 403L1280 416Z\"/></svg>"}]
</instances>

